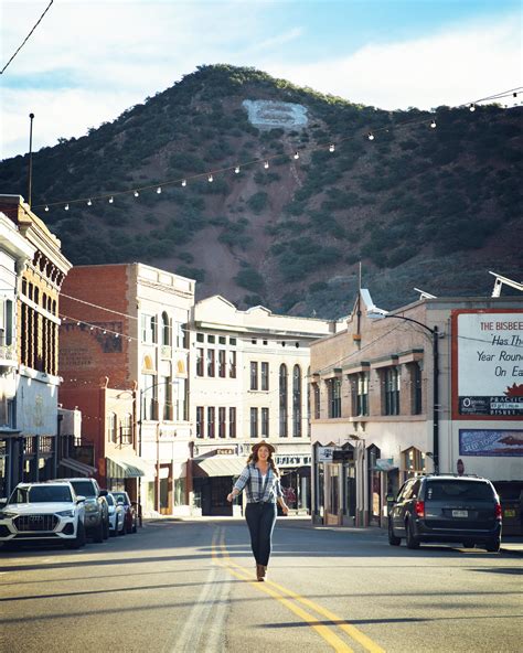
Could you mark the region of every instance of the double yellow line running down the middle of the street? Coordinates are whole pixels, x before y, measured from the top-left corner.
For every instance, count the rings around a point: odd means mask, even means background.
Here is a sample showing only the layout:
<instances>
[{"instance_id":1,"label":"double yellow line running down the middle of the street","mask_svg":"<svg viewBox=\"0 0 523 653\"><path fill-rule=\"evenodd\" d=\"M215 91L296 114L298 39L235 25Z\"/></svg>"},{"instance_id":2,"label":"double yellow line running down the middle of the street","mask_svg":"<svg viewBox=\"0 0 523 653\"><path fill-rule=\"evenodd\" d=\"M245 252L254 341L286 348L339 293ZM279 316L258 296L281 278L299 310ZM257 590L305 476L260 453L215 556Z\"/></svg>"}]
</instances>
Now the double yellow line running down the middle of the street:
<instances>
[{"instance_id":1,"label":"double yellow line running down the middle of the street","mask_svg":"<svg viewBox=\"0 0 523 653\"><path fill-rule=\"evenodd\" d=\"M340 653L353 653L353 649L345 644L345 642L334 632L334 630L332 630L333 627L337 627L348 634L354 642L361 644L365 651L369 651L370 653L385 653L381 646L378 646L364 633L357 630L357 628L351 625L350 623L345 623L341 617L338 617L334 614L334 612L331 612L327 608L323 608L310 599L301 597L292 590L287 589L277 582L273 582L271 580L266 580L265 582L258 582L257 580L254 580L253 575L248 569L231 559L225 547L225 532L223 528L217 528L213 534L212 557L217 565L225 567L230 574L236 578L239 578L239 580L247 580L253 585L253 587L259 591L265 592L266 595L269 595L282 606L285 606L288 610L293 612L297 617L302 619L328 644L330 644L334 651ZM303 610L301 606L306 607L308 610L312 610L313 612L321 614L331 622L331 625L321 623L319 619L317 619L307 610Z\"/></svg>"}]
</instances>

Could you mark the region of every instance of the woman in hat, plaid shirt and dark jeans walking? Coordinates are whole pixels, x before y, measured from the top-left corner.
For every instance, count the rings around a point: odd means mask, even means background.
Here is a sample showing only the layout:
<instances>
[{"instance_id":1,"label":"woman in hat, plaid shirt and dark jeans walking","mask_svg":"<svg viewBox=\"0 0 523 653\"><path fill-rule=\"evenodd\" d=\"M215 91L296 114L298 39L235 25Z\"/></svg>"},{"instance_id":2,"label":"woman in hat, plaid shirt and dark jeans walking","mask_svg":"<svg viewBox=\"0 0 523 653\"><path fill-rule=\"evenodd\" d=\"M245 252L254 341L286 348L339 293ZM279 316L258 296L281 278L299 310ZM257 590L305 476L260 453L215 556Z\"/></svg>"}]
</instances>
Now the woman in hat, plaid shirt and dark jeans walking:
<instances>
[{"instance_id":1,"label":"woman in hat, plaid shirt and dark jeans walking","mask_svg":"<svg viewBox=\"0 0 523 653\"><path fill-rule=\"evenodd\" d=\"M234 484L227 501L233 501L245 488L245 518L250 533L250 547L256 560L256 578L265 580L276 523L276 501L284 515L289 511L284 501L279 471L273 460L275 448L265 440L253 446L247 464Z\"/></svg>"}]
</instances>

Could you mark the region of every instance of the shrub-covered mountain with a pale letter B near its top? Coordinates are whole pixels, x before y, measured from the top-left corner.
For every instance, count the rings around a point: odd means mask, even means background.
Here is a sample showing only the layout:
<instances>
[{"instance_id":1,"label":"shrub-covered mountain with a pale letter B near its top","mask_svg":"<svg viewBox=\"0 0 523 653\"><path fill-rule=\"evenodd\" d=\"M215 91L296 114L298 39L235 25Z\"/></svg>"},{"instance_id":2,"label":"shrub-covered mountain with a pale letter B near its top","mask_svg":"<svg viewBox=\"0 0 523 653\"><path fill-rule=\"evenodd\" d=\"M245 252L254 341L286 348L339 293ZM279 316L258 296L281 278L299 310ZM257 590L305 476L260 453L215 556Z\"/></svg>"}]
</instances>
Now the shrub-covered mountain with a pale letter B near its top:
<instances>
[{"instance_id":1,"label":"shrub-covered mountain with a pale letter B near its top","mask_svg":"<svg viewBox=\"0 0 523 653\"><path fill-rule=\"evenodd\" d=\"M75 265L140 260L241 308L340 317L359 261L385 309L414 287L484 296L488 270L521 276L522 111L385 111L201 66L33 153L32 205ZM23 195L26 171L2 161L1 191Z\"/></svg>"}]
</instances>

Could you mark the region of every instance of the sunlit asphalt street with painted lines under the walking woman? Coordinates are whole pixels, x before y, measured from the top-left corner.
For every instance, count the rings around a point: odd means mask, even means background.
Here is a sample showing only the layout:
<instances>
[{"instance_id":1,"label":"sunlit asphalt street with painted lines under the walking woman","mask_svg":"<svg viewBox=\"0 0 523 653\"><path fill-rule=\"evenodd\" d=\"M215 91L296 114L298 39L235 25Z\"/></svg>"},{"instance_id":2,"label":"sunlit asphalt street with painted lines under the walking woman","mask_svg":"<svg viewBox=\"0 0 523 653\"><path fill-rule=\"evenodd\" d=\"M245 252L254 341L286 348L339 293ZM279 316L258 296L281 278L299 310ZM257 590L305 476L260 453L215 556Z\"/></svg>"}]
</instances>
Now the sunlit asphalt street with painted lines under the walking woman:
<instances>
[{"instance_id":1,"label":"sunlit asphalt street with painted lines under the walking woman","mask_svg":"<svg viewBox=\"0 0 523 653\"><path fill-rule=\"evenodd\" d=\"M1 552L0 650L521 651L522 558L308 525L278 520L267 582L241 520L158 520L79 552Z\"/></svg>"}]
</instances>

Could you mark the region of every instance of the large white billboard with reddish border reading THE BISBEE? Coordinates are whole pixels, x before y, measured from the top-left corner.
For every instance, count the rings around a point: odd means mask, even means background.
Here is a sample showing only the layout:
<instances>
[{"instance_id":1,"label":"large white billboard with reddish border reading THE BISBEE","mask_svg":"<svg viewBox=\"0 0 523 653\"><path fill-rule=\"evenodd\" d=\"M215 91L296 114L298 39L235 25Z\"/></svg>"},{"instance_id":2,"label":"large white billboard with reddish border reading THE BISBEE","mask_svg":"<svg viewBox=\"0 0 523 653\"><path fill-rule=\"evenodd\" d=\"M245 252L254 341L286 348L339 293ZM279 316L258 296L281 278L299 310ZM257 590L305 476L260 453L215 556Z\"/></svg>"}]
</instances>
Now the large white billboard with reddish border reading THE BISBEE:
<instances>
[{"instance_id":1,"label":"large white billboard with reddish border reading THE BISBEE","mask_svg":"<svg viewBox=\"0 0 523 653\"><path fill-rule=\"evenodd\" d=\"M523 311L452 311L455 419L523 415Z\"/></svg>"}]
</instances>

